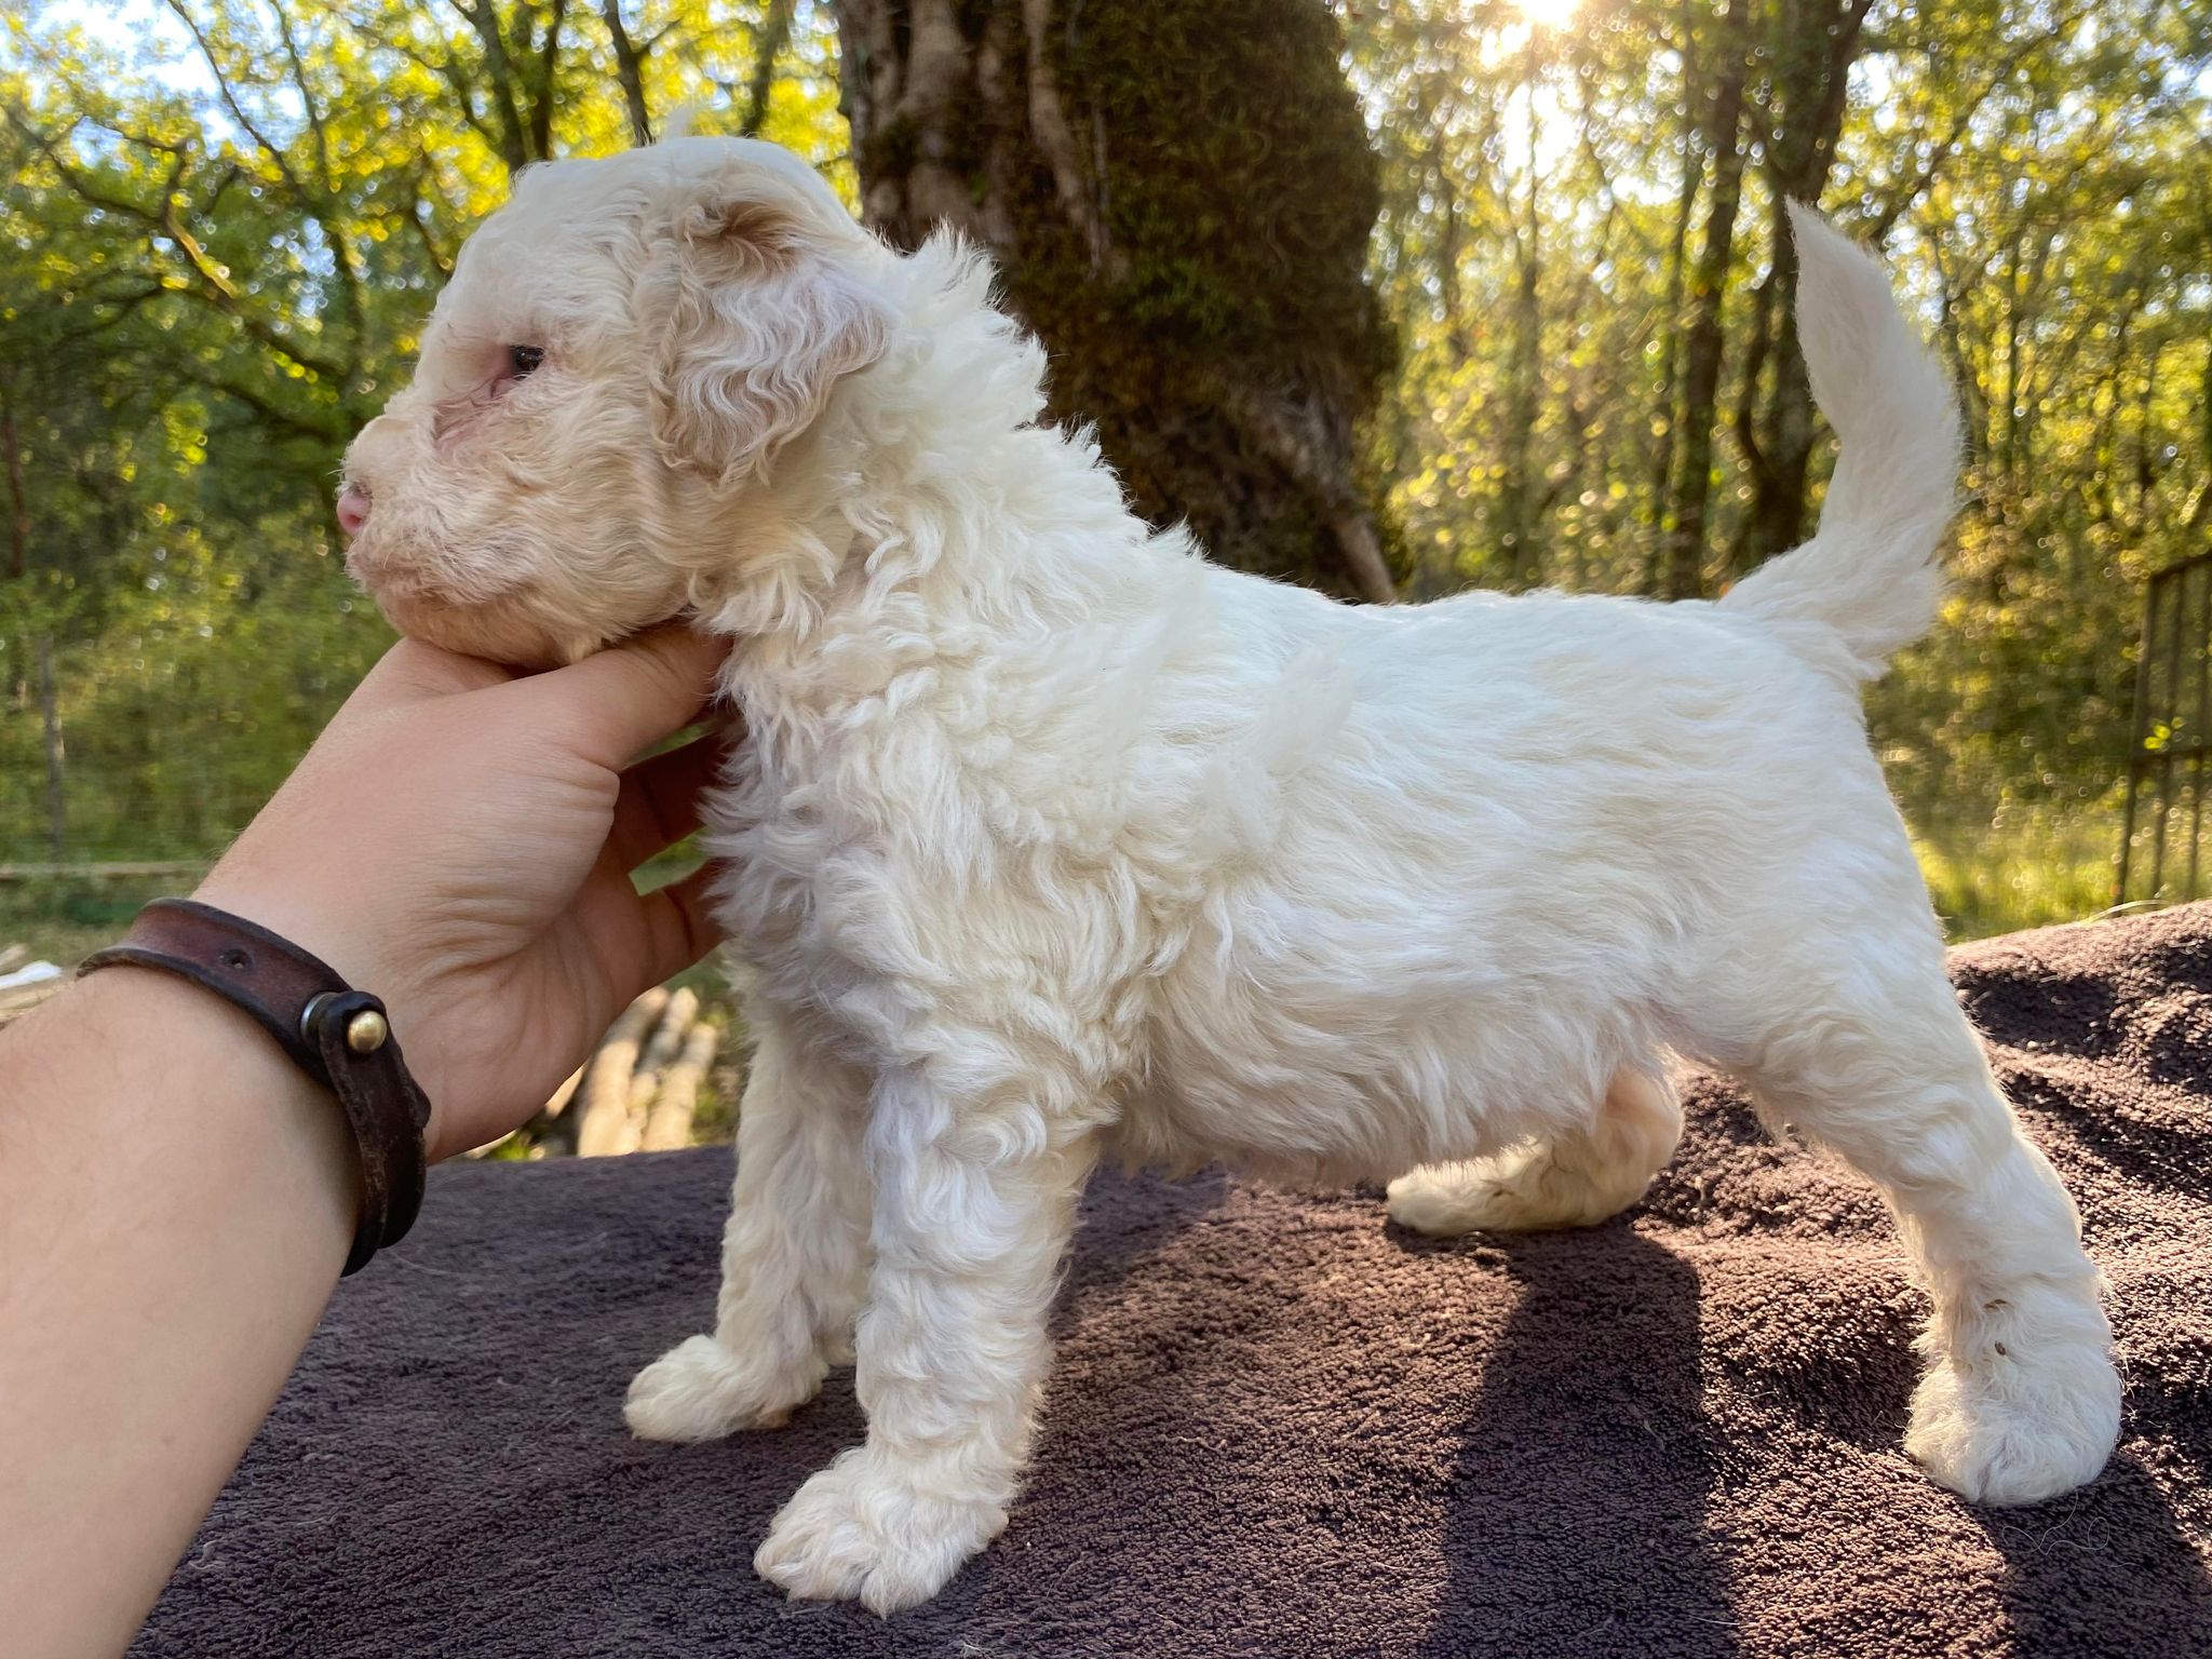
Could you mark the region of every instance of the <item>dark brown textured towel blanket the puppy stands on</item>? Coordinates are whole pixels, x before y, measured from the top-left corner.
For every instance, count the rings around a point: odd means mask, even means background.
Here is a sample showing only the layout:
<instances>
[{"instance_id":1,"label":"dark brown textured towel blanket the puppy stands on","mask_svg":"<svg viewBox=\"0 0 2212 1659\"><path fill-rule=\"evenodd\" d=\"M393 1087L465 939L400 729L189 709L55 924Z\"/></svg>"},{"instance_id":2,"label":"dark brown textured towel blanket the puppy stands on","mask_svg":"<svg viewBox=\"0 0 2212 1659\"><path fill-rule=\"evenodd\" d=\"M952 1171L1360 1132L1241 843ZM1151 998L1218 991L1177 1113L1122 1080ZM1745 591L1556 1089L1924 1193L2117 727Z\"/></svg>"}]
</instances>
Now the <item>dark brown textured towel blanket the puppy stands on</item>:
<instances>
[{"instance_id":1,"label":"dark brown textured towel blanket the puppy stands on","mask_svg":"<svg viewBox=\"0 0 2212 1659\"><path fill-rule=\"evenodd\" d=\"M1880 1203L1699 1086L1588 1232L1102 1177L1006 1535L889 1624L785 1604L748 1564L860 1438L849 1374L721 1444L619 1416L712 1316L730 1155L473 1166L338 1290L135 1652L2212 1655L2212 907L1955 975L2112 1283L2121 1447L2053 1504L1905 1460Z\"/></svg>"}]
</instances>

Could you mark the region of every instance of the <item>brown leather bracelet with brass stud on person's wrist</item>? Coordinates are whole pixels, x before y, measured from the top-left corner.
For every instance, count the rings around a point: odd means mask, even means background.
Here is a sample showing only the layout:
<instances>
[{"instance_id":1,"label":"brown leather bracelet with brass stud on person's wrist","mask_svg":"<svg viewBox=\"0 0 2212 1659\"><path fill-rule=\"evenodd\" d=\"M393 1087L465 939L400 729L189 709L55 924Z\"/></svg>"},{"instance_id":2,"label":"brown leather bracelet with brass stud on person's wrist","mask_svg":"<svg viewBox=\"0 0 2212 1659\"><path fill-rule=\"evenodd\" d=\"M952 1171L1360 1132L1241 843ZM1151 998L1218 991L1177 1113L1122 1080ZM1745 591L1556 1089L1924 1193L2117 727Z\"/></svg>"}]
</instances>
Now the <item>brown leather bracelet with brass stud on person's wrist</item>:
<instances>
[{"instance_id":1,"label":"brown leather bracelet with brass stud on person's wrist","mask_svg":"<svg viewBox=\"0 0 2212 1659\"><path fill-rule=\"evenodd\" d=\"M153 900L77 973L104 967L159 969L234 1002L338 1097L361 1155L361 1221L345 1272L407 1237L422 1208L429 1099L407 1075L383 1002L265 927L190 898Z\"/></svg>"}]
</instances>

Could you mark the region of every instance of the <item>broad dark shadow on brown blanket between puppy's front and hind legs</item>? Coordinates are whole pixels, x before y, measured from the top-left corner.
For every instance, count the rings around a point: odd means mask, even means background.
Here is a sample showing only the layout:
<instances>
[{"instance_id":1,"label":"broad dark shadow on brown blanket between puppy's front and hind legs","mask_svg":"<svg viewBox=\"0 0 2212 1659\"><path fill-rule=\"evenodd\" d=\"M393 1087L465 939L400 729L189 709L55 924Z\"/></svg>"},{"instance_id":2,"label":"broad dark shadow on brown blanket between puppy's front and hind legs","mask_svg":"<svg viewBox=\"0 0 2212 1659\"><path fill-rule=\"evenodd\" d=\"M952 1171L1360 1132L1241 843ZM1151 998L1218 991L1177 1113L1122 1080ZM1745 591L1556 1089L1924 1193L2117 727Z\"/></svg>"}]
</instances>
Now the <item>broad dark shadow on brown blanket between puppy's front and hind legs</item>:
<instances>
[{"instance_id":1,"label":"broad dark shadow on brown blanket between puppy's front and hind legs","mask_svg":"<svg viewBox=\"0 0 2212 1659\"><path fill-rule=\"evenodd\" d=\"M1418 1652L1734 1652L1705 1526L1721 1464L1690 1263L1626 1221L1400 1243L1502 1259L1517 1287L1464 1420L1442 1513L1451 1582Z\"/></svg>"}]
</instances>

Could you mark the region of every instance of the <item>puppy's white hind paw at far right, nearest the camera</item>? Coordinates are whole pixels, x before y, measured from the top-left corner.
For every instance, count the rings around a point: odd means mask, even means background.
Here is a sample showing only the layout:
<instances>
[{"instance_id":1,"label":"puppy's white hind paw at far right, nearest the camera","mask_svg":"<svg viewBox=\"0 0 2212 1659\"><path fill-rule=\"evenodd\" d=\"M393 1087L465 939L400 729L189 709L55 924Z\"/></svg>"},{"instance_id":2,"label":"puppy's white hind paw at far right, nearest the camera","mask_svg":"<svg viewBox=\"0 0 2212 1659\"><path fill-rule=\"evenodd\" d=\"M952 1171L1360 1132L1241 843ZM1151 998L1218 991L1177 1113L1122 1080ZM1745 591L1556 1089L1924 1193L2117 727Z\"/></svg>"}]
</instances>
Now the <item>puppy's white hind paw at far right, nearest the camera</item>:
<instances>
[{"instance_id":1,"label":"puppy's white hind paw at far right, nearest the camera","mask_svg":"<svg viewBox=\"0 0 2212 1659\"><path fill-rule=\"evenodd\" d=\"M2097 1478L2119 1440L2119 1376L2088 1343L2008 1343L1938 1363L1913 1389L1905 1449L1973 1504L2037 1504Z\"/></svg>"}]
</instances>

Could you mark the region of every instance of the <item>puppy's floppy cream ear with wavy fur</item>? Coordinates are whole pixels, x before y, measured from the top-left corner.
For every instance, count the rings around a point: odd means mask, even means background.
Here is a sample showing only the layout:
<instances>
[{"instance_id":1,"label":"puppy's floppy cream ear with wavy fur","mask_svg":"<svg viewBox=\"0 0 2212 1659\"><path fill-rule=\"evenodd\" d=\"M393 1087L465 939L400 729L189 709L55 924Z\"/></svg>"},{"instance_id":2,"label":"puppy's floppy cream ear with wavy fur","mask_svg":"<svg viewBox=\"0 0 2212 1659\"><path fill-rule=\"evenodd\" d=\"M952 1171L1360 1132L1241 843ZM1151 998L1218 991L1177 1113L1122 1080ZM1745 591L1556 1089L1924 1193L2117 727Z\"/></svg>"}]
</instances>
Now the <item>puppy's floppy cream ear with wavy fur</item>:
<instances>
[{"instance_id":1,"label":"puppy's floppy cream ear with wavy fur","mask_svg":"<svg viewBox=\"0 0 2212 1659\"><path fill-rule=\"evenodd\" d=\"M852 248L805 210L710 199L677 219L675 292L655 372L655 436L723 482L765 473L841 376L878 361L891 314Z\"/></svg>"}]
</instances>

